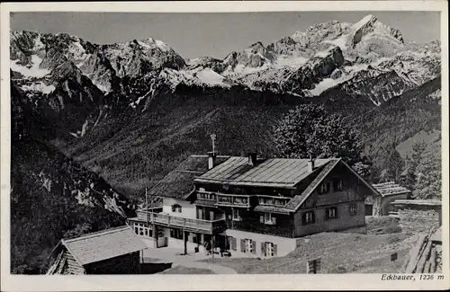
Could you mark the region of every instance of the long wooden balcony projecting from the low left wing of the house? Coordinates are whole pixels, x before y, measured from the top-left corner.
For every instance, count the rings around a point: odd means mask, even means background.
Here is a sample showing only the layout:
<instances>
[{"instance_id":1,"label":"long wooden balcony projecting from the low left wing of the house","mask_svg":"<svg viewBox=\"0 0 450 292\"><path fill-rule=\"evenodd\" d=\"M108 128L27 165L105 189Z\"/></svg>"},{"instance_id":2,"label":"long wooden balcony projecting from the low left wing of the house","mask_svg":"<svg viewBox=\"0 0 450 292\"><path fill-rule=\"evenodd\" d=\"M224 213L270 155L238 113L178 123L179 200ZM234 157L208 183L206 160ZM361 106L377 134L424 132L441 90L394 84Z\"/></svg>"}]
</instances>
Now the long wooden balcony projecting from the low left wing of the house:
<instances>
[{"instance_id":1,"label":"long wooden balcony projecting from the low left wing of the house","mask_svg":"<svg viewBox=\"0 0 450 292\"><path fill-rule=\"evenodd\" d=\"M203 234L216 234L227 229L225 217L217 220L191 219L184 217L175 217L165 213L156 213L138 210L138 219L148 221L149 224L157 226L167 226L175 228L183 228L185 231L197 232ZM146 220L146 215L148 215Z\"/></svg>"}]
</instances>

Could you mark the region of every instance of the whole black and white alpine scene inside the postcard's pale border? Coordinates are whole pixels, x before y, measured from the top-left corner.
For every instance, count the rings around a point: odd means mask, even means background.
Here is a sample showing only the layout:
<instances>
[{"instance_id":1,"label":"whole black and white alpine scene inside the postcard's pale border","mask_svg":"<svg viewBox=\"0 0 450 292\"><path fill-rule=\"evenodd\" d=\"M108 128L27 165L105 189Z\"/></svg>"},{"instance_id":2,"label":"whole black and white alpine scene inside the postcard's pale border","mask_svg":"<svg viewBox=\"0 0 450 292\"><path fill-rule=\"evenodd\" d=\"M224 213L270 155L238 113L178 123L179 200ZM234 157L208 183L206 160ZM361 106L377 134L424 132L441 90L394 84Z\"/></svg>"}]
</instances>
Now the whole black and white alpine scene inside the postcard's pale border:
<instances>
[{"instance_id":1,"label":"whole black and white alpine scene inside the postcard's pale border","mask_svg":"<svg viewBox=\"0 0 450 292\"><path fill-rule=\"evenodd\" d=\"M10 12L10 274L448 283L442 17Z\"/></svg>"}]
</instances>

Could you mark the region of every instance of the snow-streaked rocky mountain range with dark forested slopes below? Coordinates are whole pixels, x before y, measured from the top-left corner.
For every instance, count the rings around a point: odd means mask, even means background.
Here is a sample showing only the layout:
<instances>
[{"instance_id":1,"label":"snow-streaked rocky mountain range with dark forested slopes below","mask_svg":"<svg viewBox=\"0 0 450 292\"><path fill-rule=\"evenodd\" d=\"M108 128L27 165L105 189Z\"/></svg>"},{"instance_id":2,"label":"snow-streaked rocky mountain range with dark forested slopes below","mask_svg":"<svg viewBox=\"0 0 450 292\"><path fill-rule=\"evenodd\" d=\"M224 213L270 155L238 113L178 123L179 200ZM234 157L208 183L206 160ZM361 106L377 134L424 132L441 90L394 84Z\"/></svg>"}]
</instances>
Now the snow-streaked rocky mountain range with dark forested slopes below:
<instances>
[{"instance_id":1,"label":"snow-streaked rocky mountain range with dark forested slopes below","mask_svg":"<svg viewBox=\"0 0 450 292\"><path fill-rule=\"evenodd\" d=\"M99 226L132 213L143 190L187 155L209 151L211 133L223 155L276 155L274 127L305 102L342 113L378 170L392 145L441 129L440 41L404 40L374 15L319 23L223 59L183 58L152 38L94 44L12 31L10 40L12 197L35 188L38 198L67 198L74 215L82 206ZM73 221L53 234L82 227Z\"/></svg>"}]
</instances>

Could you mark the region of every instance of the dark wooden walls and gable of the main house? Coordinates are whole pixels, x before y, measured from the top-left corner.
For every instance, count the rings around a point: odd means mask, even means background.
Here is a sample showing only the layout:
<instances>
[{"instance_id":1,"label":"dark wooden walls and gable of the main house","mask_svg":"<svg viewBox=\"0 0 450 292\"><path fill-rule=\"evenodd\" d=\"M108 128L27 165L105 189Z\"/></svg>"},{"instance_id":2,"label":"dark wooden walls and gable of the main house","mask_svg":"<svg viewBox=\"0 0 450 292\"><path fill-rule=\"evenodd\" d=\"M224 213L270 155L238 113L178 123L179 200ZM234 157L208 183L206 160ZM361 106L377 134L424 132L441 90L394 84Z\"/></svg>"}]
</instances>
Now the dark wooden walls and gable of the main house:
<instances>
[{"instance_id":1,"label":"dark wooden walls and gable of the main house","mask_svg":"<svg viewBox=\"0 0 450 292\"><path fill-rule=\"evenodd\" d=\"M295 238L307 234L365 226L365 197L372 195L374 190L371 190L344 164L338 164L330 171L298 210L293 212L277 210L277 208L283 208L295 194L302 194L302 191L311 185L311 181L312 178L306 182L301 181L294 188L288 189L245 186L224 188L221 183L202 182L195 184L195 189L220 195L233 193L231 196L234 197L238 194L246 194L245 198L251 204L216 205L218 211L225 214L229 229ZM320 192L323 185L327 187ZM267 212L258 211L257 206L267 207ZM327 210L333 207L337 208L337 217L327 218ZM270 211L271 208L273 211ZM308 212L312 214L313 222L304 222L305 214ZM238 213L238 217L235 213ZM270 213L270 217L275 220L266 222L267 213Z\"/></svg>"}]
</instances>

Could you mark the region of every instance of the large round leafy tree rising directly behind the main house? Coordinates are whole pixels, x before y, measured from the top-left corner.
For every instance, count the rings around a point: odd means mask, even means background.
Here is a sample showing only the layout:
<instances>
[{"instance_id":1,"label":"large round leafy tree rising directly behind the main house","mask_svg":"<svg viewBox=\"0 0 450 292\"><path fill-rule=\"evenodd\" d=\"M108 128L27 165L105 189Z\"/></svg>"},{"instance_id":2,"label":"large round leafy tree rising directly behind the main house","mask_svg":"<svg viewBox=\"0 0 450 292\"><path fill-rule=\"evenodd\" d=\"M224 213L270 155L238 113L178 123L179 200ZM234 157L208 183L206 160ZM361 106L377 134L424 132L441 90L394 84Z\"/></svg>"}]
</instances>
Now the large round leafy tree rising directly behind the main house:
<instances>
[{"instance_id":1,"label":"large round leafy tree rising directly behind the main house","mask_svg":"<svg viewBox=\"0 0 450 292\"><path fill-rule=\"evenodd\" d=\"M289 111L275 128L275 144L283 157L341 157L364 177L370 174L371 163L356 131L322 105L302 104Z\"/></svg>"}]
</instances>

